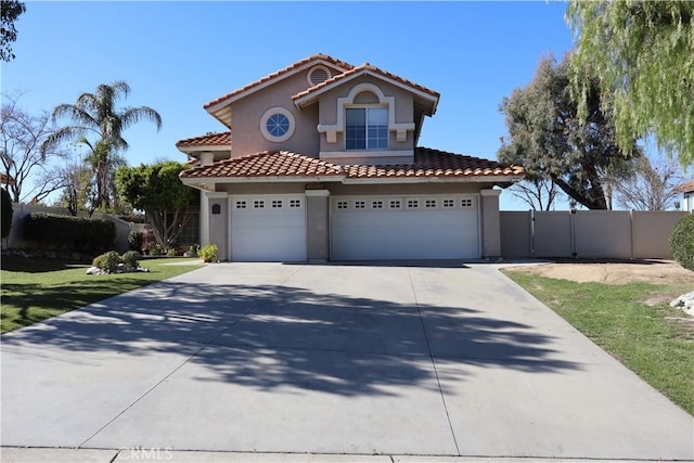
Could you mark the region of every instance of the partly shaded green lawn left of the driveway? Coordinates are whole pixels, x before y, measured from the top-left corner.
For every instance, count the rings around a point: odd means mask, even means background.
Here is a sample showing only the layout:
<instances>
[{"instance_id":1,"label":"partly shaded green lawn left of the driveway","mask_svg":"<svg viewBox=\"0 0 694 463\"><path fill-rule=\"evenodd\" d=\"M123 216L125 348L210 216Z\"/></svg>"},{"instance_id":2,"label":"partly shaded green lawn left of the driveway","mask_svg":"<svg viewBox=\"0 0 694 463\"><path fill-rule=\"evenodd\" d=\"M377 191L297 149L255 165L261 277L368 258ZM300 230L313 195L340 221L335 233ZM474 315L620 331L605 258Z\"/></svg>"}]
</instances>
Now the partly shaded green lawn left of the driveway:
<instances>
[{"instance_id":1,"label":"partly shaded green lawn left of the driveway","mask_svg":"<svg viewBox=\"0 0 694 463\"><path fill-rule=\"evenodd\" d=\"M87 275L90 267L64 260L3 257L0 279L1 332L27 326L88 304L134 290L200 267L167 266L190 259L147 259L150 272Z\"/></svg>"}]
</instances>

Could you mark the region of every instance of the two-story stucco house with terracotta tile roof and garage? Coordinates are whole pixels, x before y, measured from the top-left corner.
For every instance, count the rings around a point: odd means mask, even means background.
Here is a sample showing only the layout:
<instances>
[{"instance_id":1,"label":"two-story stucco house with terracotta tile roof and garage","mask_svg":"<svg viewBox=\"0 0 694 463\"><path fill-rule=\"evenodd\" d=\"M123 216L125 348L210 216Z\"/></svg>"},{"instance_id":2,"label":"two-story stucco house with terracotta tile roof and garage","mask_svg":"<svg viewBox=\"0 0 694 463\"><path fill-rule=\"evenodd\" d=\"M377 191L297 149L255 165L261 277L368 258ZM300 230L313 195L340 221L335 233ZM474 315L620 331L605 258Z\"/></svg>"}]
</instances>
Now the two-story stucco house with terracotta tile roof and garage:
<instances>
[{"instance_id":1,"label":"two-story stucco house with terracotta tile roof and garage","mask_svg":"<svg viewBox=\"0 0 694 463\"><path fill-rule=\"evenodd\" d=\"M324 54L220 97L181 140L201 242L235 261L500 255L499 193L523 168L419 147L439 94Z\"/></svg>"}]
</instances>

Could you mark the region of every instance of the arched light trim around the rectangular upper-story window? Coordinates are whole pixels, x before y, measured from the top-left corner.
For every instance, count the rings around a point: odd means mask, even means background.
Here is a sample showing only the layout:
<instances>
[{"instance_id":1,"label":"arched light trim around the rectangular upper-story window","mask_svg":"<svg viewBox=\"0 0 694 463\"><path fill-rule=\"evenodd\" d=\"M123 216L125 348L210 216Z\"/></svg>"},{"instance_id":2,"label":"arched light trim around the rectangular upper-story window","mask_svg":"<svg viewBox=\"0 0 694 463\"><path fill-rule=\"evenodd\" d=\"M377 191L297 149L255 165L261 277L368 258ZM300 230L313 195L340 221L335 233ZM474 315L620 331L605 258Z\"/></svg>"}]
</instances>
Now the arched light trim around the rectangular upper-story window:
<instances>
[{"instance_id":1,"label":"arched light trim around the rectangular upper-story window","mask_svg":"<svg viewBox=\"0 0 694 463\"><path fill-rule=\"evenodd\" d=\"M371 92L378 98L378 106L388 107L388 133L396 132L396 141L404 142L408 139L408 131L414 131L414 123L395 121L395 97L386 97L383 91L373 83L359 83L349 91L347 97L337 99L337 124L320 124L318 131L325 133L327 143L337 143L337 132L345 132L345 108L364 107L365 105L355 104L355 99L361 92Z\"/></svg>"}]
</instances>

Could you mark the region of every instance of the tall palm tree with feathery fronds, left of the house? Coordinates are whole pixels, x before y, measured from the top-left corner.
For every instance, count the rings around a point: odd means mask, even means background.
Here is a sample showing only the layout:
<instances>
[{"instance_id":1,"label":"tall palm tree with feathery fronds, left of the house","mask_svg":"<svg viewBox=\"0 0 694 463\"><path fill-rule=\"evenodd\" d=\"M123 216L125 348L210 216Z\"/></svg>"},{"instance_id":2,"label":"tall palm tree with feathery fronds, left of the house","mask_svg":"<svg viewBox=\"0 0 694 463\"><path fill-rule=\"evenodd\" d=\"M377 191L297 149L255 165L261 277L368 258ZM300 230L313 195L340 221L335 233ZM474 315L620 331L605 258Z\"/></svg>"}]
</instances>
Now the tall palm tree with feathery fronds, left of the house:
<instances>
[{"instance_id":1,"label":"tall palm tree with feathery fronds, left of the house","mask_svg":"<svg viewBox=\"0 0 694 463\"><path fill-rule=\"evenodd\" d=\"M154 123L157 130L162 128L162 116L150 106L116 107L128 94L130 86L117 80L100 85L94 93L80 94L75 104L60 104L53 110L53 120L67 118L73 125L56 130L49 141L77 140L90 150L87 162L92 167L97 208L111 206L114 197L108 179L114 178L119 166L118 153L128 149L124 131L141 120Z\"/></svg>"}]
</instances>

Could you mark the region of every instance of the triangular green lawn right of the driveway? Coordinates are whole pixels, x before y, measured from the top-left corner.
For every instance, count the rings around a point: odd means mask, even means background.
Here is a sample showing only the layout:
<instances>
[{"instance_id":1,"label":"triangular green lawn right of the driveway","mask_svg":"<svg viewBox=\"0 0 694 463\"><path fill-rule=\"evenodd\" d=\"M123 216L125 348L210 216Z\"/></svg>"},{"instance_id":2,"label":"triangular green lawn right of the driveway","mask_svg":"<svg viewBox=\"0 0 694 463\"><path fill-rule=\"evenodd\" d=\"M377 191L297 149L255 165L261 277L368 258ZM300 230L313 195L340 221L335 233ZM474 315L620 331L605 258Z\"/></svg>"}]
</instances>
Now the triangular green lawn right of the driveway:
<instances>
[{"instance_id":1,"label":"triangular green lawn right of the driveway","mask_svg":"<svg viewBox=\"0 0 694 463\"><path fill-rule=\"evenodd\" d=\"M576 283L505 273L627 368L694 414L694 323L666 299L692 288ZM663 300L661 303L646 303Z\"/></svg>"}]
</instances>

